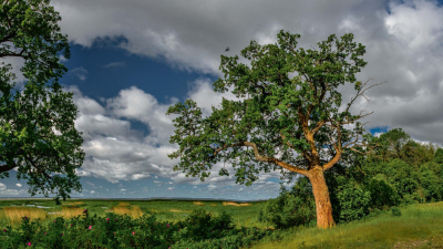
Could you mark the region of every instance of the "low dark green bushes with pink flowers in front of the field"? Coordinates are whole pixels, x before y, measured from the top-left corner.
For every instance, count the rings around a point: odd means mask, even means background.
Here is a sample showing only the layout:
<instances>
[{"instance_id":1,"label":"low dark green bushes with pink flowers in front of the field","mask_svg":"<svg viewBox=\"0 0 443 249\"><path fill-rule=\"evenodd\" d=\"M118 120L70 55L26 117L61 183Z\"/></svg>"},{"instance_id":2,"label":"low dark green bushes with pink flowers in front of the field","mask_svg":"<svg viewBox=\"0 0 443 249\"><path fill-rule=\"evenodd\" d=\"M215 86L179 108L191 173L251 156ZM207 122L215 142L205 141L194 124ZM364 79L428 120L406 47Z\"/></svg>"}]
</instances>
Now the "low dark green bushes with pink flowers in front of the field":
<instances>
[{"instance_id":1,"label":"low dark green bushes with pink flowers in front of the field","mask_svg":"<svg viewBox=\"0 0 443 249\"><path fill-rule=\"evenodd\" d=\"M203 209L194 210L186 220L173 224L157 221L156 215L145 214L138 219L113 212L97 217L87 215L64 219L58 217L49 227L40 219L30 222L23 217L21 230L11 227L0 230L1 248L196 248L239 249L250 247L257 240L275 241L287 236L286 231L272 231L256 227L234 229L231 217L226 212L214 218ZM217 229L219 228L219 229Z\"/></svg>"}]
</instances>

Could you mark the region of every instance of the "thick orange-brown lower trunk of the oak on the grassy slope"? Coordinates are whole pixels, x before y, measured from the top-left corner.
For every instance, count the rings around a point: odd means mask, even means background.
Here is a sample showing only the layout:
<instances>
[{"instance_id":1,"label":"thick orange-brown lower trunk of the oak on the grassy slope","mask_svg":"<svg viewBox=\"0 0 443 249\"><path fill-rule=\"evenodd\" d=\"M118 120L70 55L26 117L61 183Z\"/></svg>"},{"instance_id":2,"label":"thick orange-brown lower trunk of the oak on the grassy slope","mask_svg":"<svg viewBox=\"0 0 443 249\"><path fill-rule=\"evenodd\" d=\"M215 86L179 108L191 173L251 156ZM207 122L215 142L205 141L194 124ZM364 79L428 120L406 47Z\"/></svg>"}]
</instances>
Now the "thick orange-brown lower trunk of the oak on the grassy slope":
<instances>
[{"instance_id":1,"label":"thick orange-brown lower trunk of the oak on the grassy slope","mask_svg":"<svg viewBox=\"0 0 443 249\"><path fill-rule=\"evenodd\" d=\"M323 168L316 167L309 170L309 180L312 185L312 193L316 199L317 227L330 228L336 226L332 217L332 205L329 198L328 186L326 185Z\"/></svg>"}]
</instances>

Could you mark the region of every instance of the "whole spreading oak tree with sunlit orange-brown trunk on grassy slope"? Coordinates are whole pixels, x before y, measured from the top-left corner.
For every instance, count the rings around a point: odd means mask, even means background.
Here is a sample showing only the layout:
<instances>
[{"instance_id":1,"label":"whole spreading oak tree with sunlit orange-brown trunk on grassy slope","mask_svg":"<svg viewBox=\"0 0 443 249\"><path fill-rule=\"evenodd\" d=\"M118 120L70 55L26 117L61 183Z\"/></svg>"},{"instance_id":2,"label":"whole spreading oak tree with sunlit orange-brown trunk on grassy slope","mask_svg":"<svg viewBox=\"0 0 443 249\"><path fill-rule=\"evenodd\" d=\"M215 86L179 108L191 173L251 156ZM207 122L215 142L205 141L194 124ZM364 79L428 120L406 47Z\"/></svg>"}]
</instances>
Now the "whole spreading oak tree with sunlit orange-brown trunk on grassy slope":
<instances>
[{"instance_id":1,"label":"whole spreading oak tree with sunlit orange-brown trunk on grassy slope","mask_svg":"<svg viewBox=\"0 0 443 249\"><path fill-rule=\"evenodd\" d=\"M344 124L353 124L369 115L349 113L353 101L363 95L365 90L362 87L368 82L363 85L356 83L358 93L342 113L338 113L341 94L334 89L344 82L356 82L354 74L367 64L358 56L363 55L365 50L361 44L356 48L356 43L351 42L352 33L344 34L341 42L331 34L327 41L317 43L320 51L307 52L303 49L296 51L299 34L281 30L277 37L279 45L261 46L251 41L241 51L244 58L251 60L251 68L237 63L237 55L220 55L219 69L225 73L225 80L218 79L214 91L225 92L227 86L234 85L233 93L237 97L248 94L249 98L244 102L223 98L222 110L213 107L213 114L205 120L202 120L200 108L193 100L169 107L166 114L181 114L174 120L177 128L169 143L178 143L181 148L168 157L181 157L174 170L182 169L186 177L198 175L202 181L209 176L206 170L213 164L224 158L236 167L235 159L238 157L236 183L244 184L247 178L247 186L258 179L256 174L259 170L268 173L271 166L274 170L287 169L307 176L316 199L317 226L329 228L334 226L334 220L323 173L337 164L348 149L364 154L354 147L365 146L370 135L363 135L362 144L358 145L356 143L363 133L364 124L357 122L353 131L343 128ZM331 49L333 41L334 51ZM352 63L346 61L348 55L351 55ZM298 75L290 79L289 73L292 72L298 72ZM351 142L356 136L356 141ZM216 146L212 147L214 144ZM324 146L334 149L330 160L321 158ZM240 151L241 147L246 151ZM228 148L231 151L227 152ZM281 158L276 157L279 152L282 153ZM295 158L291 152L300 155ZM251 162L258 163L259 167ZM228 172L223 168L219 175L228 175Z\"/></svg>"}]
</instances>

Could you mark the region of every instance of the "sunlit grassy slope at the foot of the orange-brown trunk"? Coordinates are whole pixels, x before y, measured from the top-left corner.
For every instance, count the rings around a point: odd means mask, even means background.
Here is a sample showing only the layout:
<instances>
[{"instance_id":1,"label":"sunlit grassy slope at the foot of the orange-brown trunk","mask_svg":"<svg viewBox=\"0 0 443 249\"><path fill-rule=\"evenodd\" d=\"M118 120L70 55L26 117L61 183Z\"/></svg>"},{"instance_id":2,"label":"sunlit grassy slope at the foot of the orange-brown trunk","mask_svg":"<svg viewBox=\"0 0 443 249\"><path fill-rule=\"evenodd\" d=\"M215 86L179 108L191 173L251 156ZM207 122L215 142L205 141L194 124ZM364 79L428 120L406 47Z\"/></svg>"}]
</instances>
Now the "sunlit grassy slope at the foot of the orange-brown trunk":
<instances>
[{"instance_id":1,"label":"sunlit grassy slope at the foot of the orange-brown trunk","mask_svg":"<svg viewBox=\"0 0 443 249\"><path fill-rule=\"evenodd\" d=\"M411 205L328 230L293 228L281 241L258 242L253 249L277 248L443 248L443 201Z\"/></svg>"}]
</instances>

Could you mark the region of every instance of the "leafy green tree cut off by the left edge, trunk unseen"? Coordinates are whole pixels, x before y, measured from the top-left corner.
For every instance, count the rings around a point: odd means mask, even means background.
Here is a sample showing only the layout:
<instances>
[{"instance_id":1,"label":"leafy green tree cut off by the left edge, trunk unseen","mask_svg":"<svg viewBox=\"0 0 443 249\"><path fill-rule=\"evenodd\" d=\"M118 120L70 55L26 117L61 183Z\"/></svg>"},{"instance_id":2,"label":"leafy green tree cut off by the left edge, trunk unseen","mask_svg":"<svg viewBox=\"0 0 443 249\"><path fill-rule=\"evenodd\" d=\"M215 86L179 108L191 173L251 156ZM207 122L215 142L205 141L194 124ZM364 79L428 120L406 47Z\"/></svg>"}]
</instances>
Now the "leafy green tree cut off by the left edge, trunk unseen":
<instances>
[{"instance_id":1,"label":"leafy green tree cut off by the left edge, trunk unseen","mask_svg":"<svg viewBox=\"0 0 443 249\"><path fill-rule=\"evenodd\" d=\"M18 179L29 179L29 193L59 196L81 191L75 168L81 167L83 138L74 128L78 108L72 93L58 80L68 69L58 52L69 59L68 35L59 33L61 20L49 0L2 0L0 6L0 58L22 58L20 70L28 80L16 90L11 64L0 68L0 177L18 167ZM11 46L13 45L13 49ZM55 173L55 175L52 175ZM58 174L64 174L62 177Z\"/></svg>"}]
</instances>

